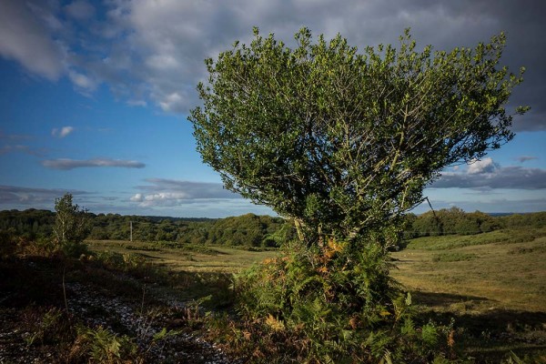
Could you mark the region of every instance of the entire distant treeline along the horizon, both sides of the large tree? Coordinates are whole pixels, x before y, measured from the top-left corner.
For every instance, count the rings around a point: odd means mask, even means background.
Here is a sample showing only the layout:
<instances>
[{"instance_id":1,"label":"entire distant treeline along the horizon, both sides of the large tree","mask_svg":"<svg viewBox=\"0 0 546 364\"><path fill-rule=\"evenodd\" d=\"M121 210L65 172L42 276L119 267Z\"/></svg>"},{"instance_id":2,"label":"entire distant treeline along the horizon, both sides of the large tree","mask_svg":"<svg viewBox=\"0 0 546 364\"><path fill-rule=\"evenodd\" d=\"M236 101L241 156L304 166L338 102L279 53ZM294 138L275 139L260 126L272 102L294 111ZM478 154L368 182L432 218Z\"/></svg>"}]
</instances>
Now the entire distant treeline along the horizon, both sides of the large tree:
<instances>
[{"instance_id":1,"label":"entire distant treeline along the horizon, both sides of the large tree","mask_svg":"<svg viewBox=\"0 0 546 364\"><path fill-rule=\"evenodd\" d=\"M129 239L131 222L133 240L176 241L245 247L278 247L295 238L296 231L281 217L247 214L226 218L140 217L89 213L89 235L96 240ZM491 216L480 211L467 213L458 207L409 214L404 238L440 235L471 235L500 228L544 227L546 212ZM0 234L25 238L48 238L52 235L55 213L48 210L0 211Z\"/></svg>"}]
</instances>

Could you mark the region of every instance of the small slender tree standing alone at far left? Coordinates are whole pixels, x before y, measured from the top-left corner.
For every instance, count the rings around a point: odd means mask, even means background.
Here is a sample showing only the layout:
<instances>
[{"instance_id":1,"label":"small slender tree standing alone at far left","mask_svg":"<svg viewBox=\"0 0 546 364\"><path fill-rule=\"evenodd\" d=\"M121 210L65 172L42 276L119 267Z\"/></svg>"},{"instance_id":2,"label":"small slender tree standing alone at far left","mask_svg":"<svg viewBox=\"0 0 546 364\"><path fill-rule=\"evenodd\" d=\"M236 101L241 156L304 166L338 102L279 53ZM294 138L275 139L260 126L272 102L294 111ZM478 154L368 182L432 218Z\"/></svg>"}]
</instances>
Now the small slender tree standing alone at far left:
<instances>
[{"instance_id":1,"label":"small slender tree standing alone at far left","mask_svg":"<svg viewBox=\"0 0 546 364\"><path fill-rule=\"evenodd\" d=\"M88 213L86 208L80 208L72 203L72 195L55 200L56 220L53 231L56 244L67 254L77 254L82 249L82 243L89 233Z\"/></svg>"}]
</instances>

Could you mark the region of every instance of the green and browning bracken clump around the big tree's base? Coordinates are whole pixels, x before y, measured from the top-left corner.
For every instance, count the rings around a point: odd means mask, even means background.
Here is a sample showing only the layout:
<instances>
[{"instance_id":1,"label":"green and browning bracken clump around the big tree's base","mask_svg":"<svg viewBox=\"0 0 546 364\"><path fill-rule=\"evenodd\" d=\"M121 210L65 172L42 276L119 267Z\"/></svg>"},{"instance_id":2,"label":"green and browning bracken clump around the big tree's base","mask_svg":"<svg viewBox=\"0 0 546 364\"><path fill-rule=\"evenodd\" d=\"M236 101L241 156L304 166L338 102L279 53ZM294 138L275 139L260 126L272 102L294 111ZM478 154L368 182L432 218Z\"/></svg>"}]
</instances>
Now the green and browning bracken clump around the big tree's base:
<instances>
[{"instance_id":1,"label":"green and browning bracken clump around the big tree's base","mask_svg":"<svg viewBox=\"0 0 546 364\"><path fill-rule=\"evenodd\" d=\"M292 243L284 258L239 275L238 312L248 322L239 329L241 340L259 338L252 344L268 359L265 352L278 345L284 355L307 362L420 363L445 357L452 350L452 328L417 326L410 295L389 277L386 250L373 241L363 246L329 239L313 250Z\"/></svg>"}]
</instances>

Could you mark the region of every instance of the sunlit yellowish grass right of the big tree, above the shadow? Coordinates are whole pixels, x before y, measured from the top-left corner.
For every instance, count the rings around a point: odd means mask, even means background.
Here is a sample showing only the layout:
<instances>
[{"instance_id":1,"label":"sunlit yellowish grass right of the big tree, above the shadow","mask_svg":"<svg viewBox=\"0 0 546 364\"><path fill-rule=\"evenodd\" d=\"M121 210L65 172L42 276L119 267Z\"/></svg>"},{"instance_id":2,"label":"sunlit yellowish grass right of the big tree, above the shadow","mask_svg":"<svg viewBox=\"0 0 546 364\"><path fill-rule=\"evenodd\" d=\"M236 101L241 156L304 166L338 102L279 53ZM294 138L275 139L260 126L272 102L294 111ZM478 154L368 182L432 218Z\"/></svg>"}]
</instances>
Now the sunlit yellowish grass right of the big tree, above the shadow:
<instances>
[{"instance_id":1,"label":"sunlit yellowish grass right of the big tree, above the shadow","mask_svg":"<svg viewBox=\"0 0 546 364\"><path fill-rule=\"evenodd\" d=\"M456 307L546 312L546 230L531 233L414 239L393 254L399 259L393 276L410 290L460 296Z\"/></svg>"}]
</instances>

